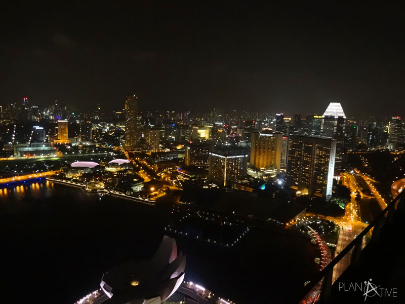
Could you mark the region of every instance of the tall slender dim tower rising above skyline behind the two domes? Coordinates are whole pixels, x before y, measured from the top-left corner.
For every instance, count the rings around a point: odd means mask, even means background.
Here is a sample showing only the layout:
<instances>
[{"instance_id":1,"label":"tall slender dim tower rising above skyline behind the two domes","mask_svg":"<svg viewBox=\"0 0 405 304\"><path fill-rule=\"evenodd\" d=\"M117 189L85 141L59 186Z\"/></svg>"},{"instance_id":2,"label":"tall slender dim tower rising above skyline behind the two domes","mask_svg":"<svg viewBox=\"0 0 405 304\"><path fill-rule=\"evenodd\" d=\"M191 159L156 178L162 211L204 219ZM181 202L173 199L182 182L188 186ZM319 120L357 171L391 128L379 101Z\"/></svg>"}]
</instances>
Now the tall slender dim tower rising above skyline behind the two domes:
<instances>
[{"instance_id":1,"label":"tall slender dim tower rising above skyline behind the two domes","mask_svg":"<svg viewBox=\"0 0 405 304\"><path fill-rule=\"evenodd\" d=\"M127 95L124 104L125 111L125 147L132 149L137 143L137 113L138 96Z\"/></svg>"}]
</instances>

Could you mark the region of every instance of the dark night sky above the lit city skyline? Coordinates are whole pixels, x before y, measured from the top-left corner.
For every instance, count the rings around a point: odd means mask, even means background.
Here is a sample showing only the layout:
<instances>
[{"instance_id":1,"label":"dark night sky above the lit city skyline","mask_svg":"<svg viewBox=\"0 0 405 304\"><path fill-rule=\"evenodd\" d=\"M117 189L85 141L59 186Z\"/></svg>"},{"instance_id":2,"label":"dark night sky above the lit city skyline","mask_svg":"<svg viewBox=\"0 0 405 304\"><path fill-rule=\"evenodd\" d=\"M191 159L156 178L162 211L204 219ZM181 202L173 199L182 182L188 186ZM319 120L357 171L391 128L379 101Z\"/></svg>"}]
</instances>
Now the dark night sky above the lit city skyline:
<instances>
[{"instance_id":1,"label":"dark night sky above the lit city skyline","mask_svg":"<svg viewBox=\"0 0 405 304\"><path fill-rule=\"evenodd\" d=\"M399 7L41 3L2 7L0 104L405 114Z\"/></svg>"}]
</instances>

